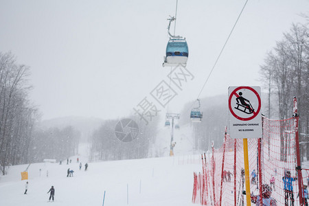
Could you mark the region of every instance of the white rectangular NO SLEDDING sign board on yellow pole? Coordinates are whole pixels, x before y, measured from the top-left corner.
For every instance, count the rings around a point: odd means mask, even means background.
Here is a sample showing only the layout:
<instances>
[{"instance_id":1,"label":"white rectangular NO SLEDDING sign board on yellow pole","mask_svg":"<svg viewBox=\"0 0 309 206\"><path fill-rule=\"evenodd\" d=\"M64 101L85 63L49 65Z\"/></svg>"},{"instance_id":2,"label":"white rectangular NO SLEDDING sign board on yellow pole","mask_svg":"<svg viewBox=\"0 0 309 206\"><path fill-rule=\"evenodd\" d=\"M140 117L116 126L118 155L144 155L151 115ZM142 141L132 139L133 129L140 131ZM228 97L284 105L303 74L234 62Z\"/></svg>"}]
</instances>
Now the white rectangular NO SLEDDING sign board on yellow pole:
<instances>
[{"instance_id":1,"label":"white rectangular NO SLEDDING sign board on yellow pole","mask_svg":"<svg viewBox=\"0 0 309 206\"><path fill-rule=\"evenodd\" d=\"M229 135L231 138L262 137L260 93L260 87L229 87Z\"/></svg>"}]
</instances>

